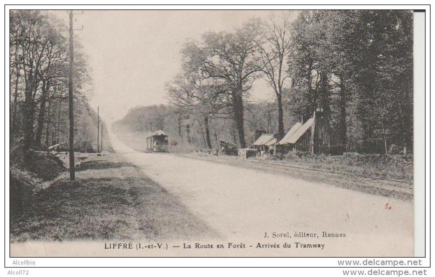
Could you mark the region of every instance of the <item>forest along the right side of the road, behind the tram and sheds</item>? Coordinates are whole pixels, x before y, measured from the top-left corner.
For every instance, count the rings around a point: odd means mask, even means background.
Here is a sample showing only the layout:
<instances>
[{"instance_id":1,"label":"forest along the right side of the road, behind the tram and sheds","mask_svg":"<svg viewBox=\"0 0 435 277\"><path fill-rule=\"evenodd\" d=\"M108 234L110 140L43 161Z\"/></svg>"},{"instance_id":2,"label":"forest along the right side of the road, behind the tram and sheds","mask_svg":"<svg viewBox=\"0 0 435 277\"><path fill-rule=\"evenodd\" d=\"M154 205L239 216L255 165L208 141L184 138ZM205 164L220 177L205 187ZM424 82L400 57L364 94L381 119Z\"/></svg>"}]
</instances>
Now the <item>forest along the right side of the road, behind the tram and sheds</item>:
<instances>
[{"instance_id":1,"label":"forest along the right side of the road, behind the tram and sheds","mask_svg":"<svg viewBox=\"0 0 435 277\"><path fill-rule=\"evenodd\" d=\"M115 131L135 144L162 129L174 149L216 149L219 139L243 148L257 130L282 136L322 109L346 151L412 153L412 11L295 12L186 41L170 104L143 103ZM257 80L273 102L252 101Z\"/></svg>"}]
</instances>

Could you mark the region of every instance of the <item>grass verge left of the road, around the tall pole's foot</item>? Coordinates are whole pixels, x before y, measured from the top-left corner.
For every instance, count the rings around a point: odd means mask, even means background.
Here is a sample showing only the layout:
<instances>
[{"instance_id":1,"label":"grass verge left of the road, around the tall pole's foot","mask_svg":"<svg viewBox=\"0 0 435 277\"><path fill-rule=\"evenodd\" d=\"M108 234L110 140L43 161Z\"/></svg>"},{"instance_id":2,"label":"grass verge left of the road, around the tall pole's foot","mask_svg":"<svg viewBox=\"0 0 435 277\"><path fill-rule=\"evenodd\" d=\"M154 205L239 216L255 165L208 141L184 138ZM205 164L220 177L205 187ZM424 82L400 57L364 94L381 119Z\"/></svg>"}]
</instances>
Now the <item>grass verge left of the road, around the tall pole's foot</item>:
<instances>
[{"instance_id":1,"label":"grass verge left of the road, around the tall pole's foot","mask_svg":"<svg viewBox=\"0 0 435 277\"><path fill-rule=\"evenodd\" d=\"M10 224L11 242L190 239L218 236L178 199L113 153L81 162L77 182L60 175Z\"/></svg>"}]
</instances>

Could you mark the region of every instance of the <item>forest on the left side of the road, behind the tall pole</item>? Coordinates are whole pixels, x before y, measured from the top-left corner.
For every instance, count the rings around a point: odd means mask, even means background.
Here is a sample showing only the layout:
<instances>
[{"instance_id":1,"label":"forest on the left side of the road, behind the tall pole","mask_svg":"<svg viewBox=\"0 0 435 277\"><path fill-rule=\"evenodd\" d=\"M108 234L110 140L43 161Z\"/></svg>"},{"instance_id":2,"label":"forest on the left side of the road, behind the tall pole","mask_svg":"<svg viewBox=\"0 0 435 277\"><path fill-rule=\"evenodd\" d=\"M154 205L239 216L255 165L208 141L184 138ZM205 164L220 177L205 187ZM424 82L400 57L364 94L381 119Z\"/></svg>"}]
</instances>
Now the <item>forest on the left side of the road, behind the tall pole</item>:
<instances>
[{"instance_id":1,"label":"forest on the left side of the road, behind the tall pole","mask_svg":"<svg viewBox=\"0 0 435 277\"><path fill-rule=\"evenodd\" d=\"M68 27L39 10L10 11L9 142L12 160L62 143L68 149ZM74 40L74 135L76 151L96 148L97 115L88 104L92 80L87 57ZM27 158L23 158L27 155Z\"/></svg>"}]
</instances>

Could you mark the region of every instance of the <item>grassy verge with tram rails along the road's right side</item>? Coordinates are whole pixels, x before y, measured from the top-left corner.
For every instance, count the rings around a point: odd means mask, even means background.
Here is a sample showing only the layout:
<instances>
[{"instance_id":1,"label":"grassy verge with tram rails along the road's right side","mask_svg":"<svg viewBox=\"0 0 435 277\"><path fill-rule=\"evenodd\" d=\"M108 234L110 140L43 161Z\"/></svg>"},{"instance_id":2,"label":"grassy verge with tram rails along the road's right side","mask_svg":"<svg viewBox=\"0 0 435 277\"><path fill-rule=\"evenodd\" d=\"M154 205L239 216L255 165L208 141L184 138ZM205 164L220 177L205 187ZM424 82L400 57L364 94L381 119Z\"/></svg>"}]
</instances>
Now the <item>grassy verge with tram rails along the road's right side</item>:
<instances>
[{"instance_id":1,"label":"grassy verge with tram rails along the road's right side","mask_svg":"<svg viewBox=\"0 0 435 277\"><path fill-rule=\"evenodd\" d=\"M352 154L353 155L353 154ZM254 169L264 172L269 172L273 174L287 175L292 178L301 179L309 182L319 182L331 184L334 186L361 191L364 193L381 195L388 198L396 198L401 200L412 201L414 199L413 185L407 183L393 182L388 180L379 180L369 178L368 176L373 176L371 174L378 176L388 176L388 177L398 177L399 180L408 180L411 176L412 182L412 162L407 166L399 162L400 165L389 165L389 167L402 168L404 172L397 173L395 175L389 174L389 171L383 171L382 167L376 168L376 164L364 165L363 162L355 163L353 165L342 164L344 156L326 156L317 157L325 159L333 159L334 161L326 161L323 163L315 162L316 157L305 157L301 159L257 159L248 158L247 160L241 160L235 156L214 156L206 153L197 154L185 154L184 156L206 159L213 162L218 162L221 164L239 166L246 169ZM365 155L363 155L365 156ZM381 157L383 158L383 157ZM389 157L398 158L398 157ZM355 160L355 158L351 158ZM280 165L285 166L280 166ZM291 167L287 167L291 166ZM320 169L320 171L313 171L306 168ZM324 171L329 171L332 169L335 172L341 172L344 174L337 174ZM327 170L329 169L329 170ZM398 169L399 170L399 169ZM406 172L405 172L406 171ZM394 171L392 171L394 173ZM361 175L360 175L361 174ZM369 175L370 174L370 175ZM271 180L273 182L273 180ZM291 185L291 183L289 183Z\"/></svg>"}]
</instances>

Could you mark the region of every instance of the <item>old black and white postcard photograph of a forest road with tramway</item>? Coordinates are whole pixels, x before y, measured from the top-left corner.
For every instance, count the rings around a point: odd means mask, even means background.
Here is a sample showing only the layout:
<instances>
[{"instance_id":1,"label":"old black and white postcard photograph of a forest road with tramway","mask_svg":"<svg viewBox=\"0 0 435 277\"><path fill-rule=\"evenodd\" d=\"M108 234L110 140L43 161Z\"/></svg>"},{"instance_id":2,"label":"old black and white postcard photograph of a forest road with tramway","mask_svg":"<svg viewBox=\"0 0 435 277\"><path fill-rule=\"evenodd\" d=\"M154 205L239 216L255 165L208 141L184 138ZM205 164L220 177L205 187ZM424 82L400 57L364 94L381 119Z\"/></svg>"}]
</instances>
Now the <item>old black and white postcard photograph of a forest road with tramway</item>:
<instances>
[{"instance_id":1,"label":"old black and white postcard photograph of a forest road with tramway","mask_svg":"<svg viewBox=\"0 0 435 277\"><path fill-rule=\"evenodd\" d=\"M10 258L420 255L424 10L72 7L5 10Z\"/></svg>"}]
</instances>

